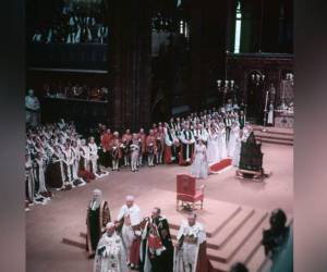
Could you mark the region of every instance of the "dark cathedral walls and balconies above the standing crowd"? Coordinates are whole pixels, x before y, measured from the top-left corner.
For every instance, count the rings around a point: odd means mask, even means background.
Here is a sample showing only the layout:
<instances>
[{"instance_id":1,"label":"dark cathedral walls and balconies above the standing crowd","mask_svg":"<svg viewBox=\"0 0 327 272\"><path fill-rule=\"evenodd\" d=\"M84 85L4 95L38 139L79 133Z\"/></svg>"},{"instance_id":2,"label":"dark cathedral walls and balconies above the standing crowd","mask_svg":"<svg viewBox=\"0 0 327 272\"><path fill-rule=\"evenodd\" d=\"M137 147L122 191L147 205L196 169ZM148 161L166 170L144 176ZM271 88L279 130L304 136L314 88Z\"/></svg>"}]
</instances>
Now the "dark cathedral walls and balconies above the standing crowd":
<instances>
[{"instance_id":1,"label":"dark cathedral walls and balconies above the standing crowd","mask_svg":"<svg viewBox=\"0 0 327 272\"><path fill-rule=\"evenodd\" d=\"M99 41L95 27L94 41L68 44L60 34L48 42L51 27L69 24L60 16L66 2L31 0L26 7L26 85L43 100L44 122L97 120L133 129L232 98L262 124L271 84L276 109L292 102L291 0L81 1L98 12L106 38ZM39 42L33 41L37 32L44 33ZM219 79L234 87L225 90ZM66 94L75 85L84 91ZM94 99L85 94L102 88Z\"/></svg>"}]
</instances>

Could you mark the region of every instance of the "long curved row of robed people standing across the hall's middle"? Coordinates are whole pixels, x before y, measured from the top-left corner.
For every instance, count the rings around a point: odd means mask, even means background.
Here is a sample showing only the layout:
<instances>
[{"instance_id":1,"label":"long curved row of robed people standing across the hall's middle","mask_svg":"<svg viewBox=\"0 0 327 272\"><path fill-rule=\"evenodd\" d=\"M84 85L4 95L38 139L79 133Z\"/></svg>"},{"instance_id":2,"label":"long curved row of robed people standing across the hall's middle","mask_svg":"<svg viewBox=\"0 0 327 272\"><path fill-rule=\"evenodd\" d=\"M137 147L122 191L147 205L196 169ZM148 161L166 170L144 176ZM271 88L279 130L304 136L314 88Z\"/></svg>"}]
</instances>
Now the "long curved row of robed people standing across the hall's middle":
<instances>
[{"instance_id":1,"label":"long curved row of robed people standing across the hall's middle","mask_svg":"<svg viewBox=\"0 0 327 272\"><path fill-rule=\"evenodd\" d=\"M107 175L109 171L143 165L192 165L191 174L206 178L209 165L231 158L239 165L241 141L252 127L242 111L231 102L219 111L215 108L169 122L153 124L148 134L130 129L120 136L98 124L86 139L76 132L73 122L29 127L26 133L26 198L29 205L45 202L48 189L71 189Z\"/></svg>"}]
</instances>

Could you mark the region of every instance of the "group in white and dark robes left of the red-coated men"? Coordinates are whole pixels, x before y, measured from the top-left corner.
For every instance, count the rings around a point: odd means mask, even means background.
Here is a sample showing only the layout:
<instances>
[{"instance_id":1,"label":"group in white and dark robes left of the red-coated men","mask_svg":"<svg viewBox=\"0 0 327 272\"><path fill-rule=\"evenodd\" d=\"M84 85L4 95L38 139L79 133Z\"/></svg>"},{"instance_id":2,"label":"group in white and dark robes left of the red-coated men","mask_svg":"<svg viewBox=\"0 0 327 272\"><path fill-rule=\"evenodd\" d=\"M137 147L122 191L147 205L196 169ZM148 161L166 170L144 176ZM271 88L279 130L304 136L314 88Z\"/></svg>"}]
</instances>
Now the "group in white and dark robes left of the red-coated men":
<instances>
[{"instance_id":1,"label":"group in white and dark robes left of the red-coated men","mask_svg":"<svg viewBox=\"0 0 327 272\"><path fill-rule=\"evenodd\" d=\"M108 174L99 169L98 147L76 133L73 122L38 125L26 134L25 174L27 205L46 203L48 187L71 189Z\"/></svg>"}]
</instances>

